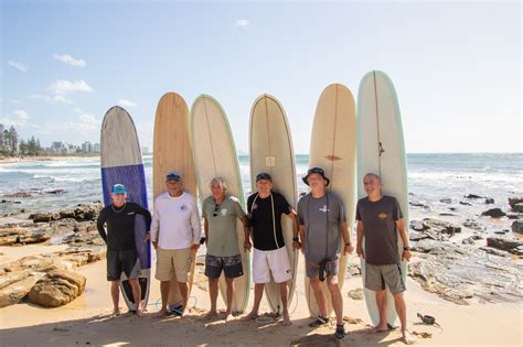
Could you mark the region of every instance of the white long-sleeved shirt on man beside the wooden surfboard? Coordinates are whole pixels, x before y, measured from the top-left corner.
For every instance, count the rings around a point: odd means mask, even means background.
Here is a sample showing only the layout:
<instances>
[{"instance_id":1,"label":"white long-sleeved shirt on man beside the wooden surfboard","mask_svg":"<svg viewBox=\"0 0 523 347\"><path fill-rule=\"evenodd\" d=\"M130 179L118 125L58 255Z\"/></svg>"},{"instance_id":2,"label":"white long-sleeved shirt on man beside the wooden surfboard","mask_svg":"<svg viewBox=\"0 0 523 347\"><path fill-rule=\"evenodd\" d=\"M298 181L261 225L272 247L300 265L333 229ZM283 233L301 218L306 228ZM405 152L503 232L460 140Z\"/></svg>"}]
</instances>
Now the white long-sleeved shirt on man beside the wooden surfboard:
<instances>
[{"instance_id":1,"label":"white long-sleeved shirt on man beside the wooden surfboard","mask_svg":"<svg viewBox=\"0 0 523 347\"><path fill-rule=\"evenodd\" d=\"M162 249L184 249L200 245L202 235L196 199L183 192L172 197L169 192L154 199L151 241Z\"/></svg>"}]
</instances>

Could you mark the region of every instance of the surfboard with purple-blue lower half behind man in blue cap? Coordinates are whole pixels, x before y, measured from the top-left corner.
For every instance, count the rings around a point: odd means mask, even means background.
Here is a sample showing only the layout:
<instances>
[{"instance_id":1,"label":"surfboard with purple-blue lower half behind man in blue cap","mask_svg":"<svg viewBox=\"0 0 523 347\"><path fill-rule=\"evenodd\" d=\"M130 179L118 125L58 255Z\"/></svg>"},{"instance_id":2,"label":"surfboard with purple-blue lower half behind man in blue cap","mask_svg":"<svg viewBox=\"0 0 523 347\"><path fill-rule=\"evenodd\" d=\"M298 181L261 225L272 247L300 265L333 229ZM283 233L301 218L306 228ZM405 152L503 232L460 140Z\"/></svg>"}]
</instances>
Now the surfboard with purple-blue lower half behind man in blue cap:
<instances>
[{"instance_id":1,"label":"surfboard with purple-blue lower half behind man in blue cap","mask_svg":"<svg viewBox=\"0 0 523 347\"><path fill-rule=\"evenodd\" d=\"M121 107L111 107L104 117L100 134L100 166L104 204L111 204L110 189L114 184L121 183L127 189L127 200L148 208L146 174L141 160L140 144L135 123L130 115ZM140 259L141 273L138 279L141 286L142 310L149 300L151 273L151 245L143 242L149 226L141 215L137 215L135 223L135 240ZM129 311L136 311L132 289L121 272L120 290Z\"/></svg>"}]
</instances>

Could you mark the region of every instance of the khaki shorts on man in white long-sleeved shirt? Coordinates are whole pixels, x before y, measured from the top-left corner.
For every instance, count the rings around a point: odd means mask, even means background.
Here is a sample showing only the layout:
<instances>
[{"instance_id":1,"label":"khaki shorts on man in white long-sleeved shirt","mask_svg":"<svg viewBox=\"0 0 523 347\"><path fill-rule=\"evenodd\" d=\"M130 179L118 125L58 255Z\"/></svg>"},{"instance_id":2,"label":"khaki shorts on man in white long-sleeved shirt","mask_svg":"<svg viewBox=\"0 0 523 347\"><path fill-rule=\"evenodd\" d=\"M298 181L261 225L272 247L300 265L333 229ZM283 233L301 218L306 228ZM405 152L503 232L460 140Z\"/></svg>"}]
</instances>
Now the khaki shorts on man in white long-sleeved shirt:
<instances>
[{"instance_id":1,"label":"khaki shorts on man in white long-sleeved shirt","mask_svg":"<svg viewBox=\"0 0 523 347\"><path fill-rule=\"evenodd\" d=\"M180 283L189 281L191 271L191 248L184 249L161 249L157 248L157 273L158 281L170 281L172 275L177 275Z\"/></svg>"}]
</instances>

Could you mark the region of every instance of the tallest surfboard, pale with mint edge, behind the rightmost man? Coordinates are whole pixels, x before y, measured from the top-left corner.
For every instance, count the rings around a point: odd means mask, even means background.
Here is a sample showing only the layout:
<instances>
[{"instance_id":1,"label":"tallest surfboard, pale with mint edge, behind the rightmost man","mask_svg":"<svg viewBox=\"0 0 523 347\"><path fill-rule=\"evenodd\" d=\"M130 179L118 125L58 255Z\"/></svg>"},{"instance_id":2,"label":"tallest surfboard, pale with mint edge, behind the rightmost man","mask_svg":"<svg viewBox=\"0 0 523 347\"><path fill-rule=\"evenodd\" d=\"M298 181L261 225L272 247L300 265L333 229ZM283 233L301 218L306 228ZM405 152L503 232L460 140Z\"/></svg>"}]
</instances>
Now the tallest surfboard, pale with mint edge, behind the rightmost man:
<instances>
[{"instance_id":1,"label":"tallest surfboard, pale with mint edge, behind the rightmost man","mask_svg":"<svg viewBox=\"0 0 523 347\"><path fill-rule=\"evenodd\" d=\"M402 116L394 85L383 72L373 71L363 76L357 95L357 186L359 197L365 197L363 176L376 173L382 181L382 193L397 198L403 220L408 228L407 161L403 135ZM398 234L398 251L403 241ZM362 279L365 279L365 261L362 259ZM401 264L402 278L407 279L407 262ZM380 323L375 294L364 288L369 316L373 325ZM388 291L387 291L388 292ZM387 294L388 324L396 323L394 297Z\"/></svg>"}]
</instances>

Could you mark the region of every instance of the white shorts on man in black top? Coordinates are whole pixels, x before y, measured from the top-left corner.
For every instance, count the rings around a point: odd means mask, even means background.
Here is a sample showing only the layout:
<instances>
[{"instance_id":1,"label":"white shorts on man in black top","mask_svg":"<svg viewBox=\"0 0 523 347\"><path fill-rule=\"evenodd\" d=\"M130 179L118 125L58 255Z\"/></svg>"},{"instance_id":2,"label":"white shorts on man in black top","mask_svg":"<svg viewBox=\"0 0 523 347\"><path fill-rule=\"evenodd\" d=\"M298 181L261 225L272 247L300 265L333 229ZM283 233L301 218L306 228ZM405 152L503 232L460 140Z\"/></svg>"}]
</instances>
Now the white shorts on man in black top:
<instances>
[{"instance_id":1,"label":"white shorts on man in black top","mask_svg":"<svg viewBox=\"0 0 523 347\"><path fill-rule=\"evenodd\" d=\"M270 274L276 283L290 281L292 270L290 269L287 247L274 250L253 251L253 281L254 283L269 283Z\"/></svg>"}]
</instances>

